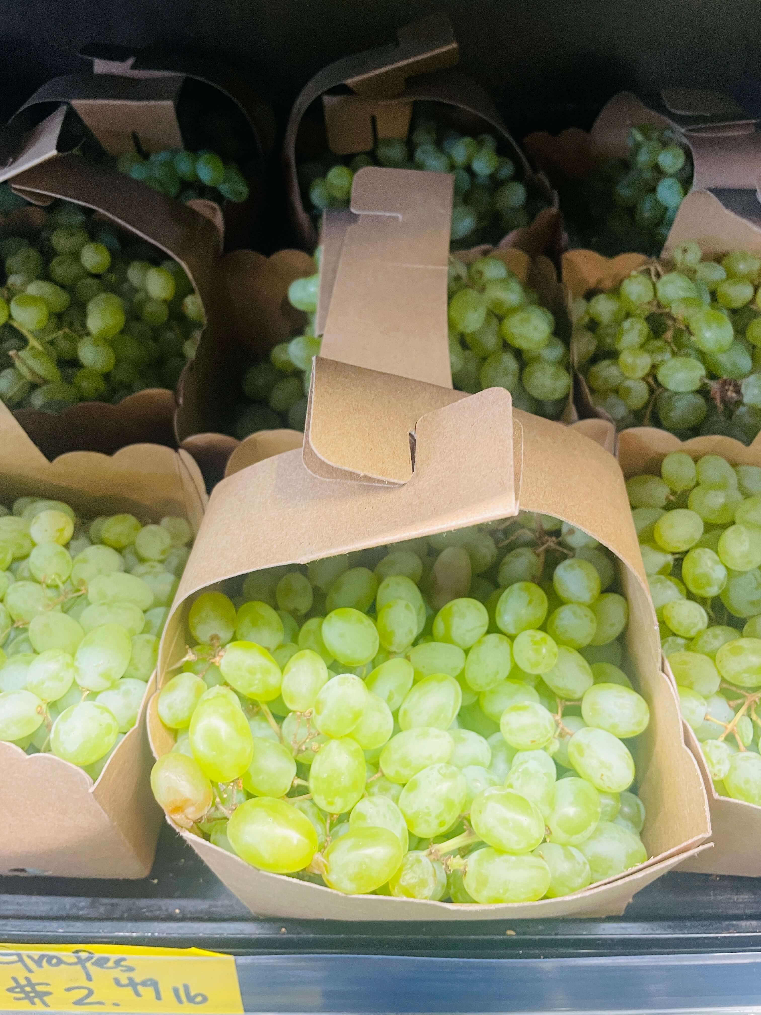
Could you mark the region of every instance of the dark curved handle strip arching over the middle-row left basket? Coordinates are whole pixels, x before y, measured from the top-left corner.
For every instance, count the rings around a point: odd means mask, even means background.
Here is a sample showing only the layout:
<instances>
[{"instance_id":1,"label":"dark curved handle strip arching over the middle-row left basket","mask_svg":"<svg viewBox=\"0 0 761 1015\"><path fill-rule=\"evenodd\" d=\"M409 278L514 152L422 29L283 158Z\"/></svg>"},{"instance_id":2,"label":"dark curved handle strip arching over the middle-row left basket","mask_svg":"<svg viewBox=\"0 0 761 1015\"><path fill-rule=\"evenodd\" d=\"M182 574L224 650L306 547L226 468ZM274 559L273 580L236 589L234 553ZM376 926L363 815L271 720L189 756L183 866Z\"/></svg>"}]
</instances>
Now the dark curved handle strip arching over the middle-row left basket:
<instances>
[{"instance_id":1,"label":"dark curved handle strip arching over the middle-row left basket","mask_svg":"<svg viewBox=\"0 0 761 1015\"><path fill-rule=\"evenodd\" d=\"M219 233L204 215L131 177L78 155L60 155L18 176L13 189L37 203L62 198L102 212L117 224L160 248L188 272L205 307L219 254ZM2 174L0 174L2 177Z\"/></svg>"}]
</instances>

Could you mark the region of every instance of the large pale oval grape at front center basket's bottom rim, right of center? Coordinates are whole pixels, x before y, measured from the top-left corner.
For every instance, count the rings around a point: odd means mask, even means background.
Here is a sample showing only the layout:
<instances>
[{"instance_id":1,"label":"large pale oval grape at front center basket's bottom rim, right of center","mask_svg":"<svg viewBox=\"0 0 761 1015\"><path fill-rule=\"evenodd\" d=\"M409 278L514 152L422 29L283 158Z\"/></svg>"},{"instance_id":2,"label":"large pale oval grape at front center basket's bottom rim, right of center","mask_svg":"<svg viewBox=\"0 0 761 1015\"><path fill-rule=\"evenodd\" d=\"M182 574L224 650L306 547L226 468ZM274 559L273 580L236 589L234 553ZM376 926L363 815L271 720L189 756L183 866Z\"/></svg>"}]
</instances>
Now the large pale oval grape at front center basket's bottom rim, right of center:
<instances>
[{"instance_id":1,"label":"large pale oval grape at front center basket's bottom rim, right of center","mask_svg":"<svg viewBox=\"0 0 761 1015\"><path fill-rule=\"evenodd\" d=\"M546 894L552 875L541 857L511 856L487 848L468 857L463 885L476 902L533 902Z\"/></svg>"}]
</instances>

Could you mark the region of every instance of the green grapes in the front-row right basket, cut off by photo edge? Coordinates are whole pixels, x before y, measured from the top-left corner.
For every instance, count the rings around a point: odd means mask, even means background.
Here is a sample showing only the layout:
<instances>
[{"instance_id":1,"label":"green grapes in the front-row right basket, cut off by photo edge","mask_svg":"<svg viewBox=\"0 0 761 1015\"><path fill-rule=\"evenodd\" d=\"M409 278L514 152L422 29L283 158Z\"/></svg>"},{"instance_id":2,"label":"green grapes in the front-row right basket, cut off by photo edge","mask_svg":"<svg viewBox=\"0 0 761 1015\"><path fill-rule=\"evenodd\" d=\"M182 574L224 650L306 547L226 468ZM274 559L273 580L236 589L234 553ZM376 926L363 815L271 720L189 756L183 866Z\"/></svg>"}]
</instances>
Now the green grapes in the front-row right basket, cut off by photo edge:
<instances>
[{"instance_id":1,"label":"green grapes in the front-row right basket, cut off by photo edge","mask_svg":"<svg viewBox=\"0 0 761 1015\"><path fill-rule=\"evenodd\" d=\"M626 486L682 716L716 792L761 805L761 468L673 452Z\"/></svg>"}]
</instances>

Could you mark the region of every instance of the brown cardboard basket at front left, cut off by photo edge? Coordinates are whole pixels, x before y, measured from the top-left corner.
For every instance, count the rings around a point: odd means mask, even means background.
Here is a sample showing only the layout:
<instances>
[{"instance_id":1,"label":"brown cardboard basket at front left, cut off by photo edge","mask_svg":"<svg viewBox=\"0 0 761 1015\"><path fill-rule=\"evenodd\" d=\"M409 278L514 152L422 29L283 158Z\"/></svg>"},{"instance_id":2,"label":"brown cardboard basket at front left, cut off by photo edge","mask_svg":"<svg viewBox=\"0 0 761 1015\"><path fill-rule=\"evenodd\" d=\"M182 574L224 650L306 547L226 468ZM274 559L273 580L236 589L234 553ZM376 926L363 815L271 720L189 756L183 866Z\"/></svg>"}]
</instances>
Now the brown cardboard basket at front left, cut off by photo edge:
<instances>
[{"instance_id":1,"label":"brown cardboard basket at front left, cut off by photo edge","mask_svg":"<svg viewBox=\"0 0 761 1015\"><path fill-rule=\"evenodd\" d=\"M0 485L5 504L21 495L63 499L88 518L130 512L186 518L198 531L206 496L185 452L140 444L113 457L73 452L49 462L0 405ZM151 797L145 709L97 782L53 754L25 754L0 743L3 874L142 878L150 871L160 813Z\"/></svg>"}]
</instances>

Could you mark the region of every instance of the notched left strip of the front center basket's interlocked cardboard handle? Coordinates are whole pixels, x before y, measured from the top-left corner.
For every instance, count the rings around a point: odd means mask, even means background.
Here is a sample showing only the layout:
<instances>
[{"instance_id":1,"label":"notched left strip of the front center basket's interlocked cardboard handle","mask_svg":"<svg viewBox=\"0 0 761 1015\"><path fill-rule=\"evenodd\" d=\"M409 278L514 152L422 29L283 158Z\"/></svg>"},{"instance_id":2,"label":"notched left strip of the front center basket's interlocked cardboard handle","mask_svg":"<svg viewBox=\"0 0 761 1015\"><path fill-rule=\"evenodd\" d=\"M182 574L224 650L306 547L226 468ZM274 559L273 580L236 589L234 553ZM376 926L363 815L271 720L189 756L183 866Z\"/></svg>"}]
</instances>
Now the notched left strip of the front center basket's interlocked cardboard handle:
<instances>
[{"instance_id":1,"label":"notched left strip of the front center basket's interlocked cardboard handle","mask_svg":"<svg viewBox=\"0 0 761 1015\"><path fill-rule=\"evenodd\" d=\"M416 420L416 467L406 484L346 482L346 474L326 480L304 468L300 451L266 458L217 484L180 580L160 650L162 668L174 639L185 637L178 626L184 601L202 589L253 569L409 539L421 526L448 532L516 513L514 462L521 461L523 430L518 424L513 432L508 392L436 390L441 399L457 401L433 405Z\"/></svg>"}]
</instances>

